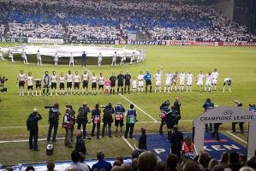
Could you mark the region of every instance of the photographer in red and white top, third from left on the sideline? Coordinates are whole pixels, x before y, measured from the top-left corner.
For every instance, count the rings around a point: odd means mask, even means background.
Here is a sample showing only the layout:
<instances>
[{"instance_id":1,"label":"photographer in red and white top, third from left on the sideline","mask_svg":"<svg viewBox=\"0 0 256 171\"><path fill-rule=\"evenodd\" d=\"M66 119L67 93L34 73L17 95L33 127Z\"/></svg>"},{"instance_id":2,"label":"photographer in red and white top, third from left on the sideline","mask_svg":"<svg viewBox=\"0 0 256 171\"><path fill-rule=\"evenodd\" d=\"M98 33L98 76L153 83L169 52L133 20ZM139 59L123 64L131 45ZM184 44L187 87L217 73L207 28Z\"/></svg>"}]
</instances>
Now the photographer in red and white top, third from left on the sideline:
<instances>
[{"instance_id":1,"label":"photographer in red and white top, third from left on the sideline","mask_svg":"<svg viewBox=\"0 0 256 171\"><path fill-rule=\"evenodd\" d=\"M68 146L68 148L72 148L71 144L71 130L74 126L73 116L71 114L71 109L67 108L66 113L63 116L63 127L65 128L65 142L64 144Z\"/></svg>"}]
</instances>

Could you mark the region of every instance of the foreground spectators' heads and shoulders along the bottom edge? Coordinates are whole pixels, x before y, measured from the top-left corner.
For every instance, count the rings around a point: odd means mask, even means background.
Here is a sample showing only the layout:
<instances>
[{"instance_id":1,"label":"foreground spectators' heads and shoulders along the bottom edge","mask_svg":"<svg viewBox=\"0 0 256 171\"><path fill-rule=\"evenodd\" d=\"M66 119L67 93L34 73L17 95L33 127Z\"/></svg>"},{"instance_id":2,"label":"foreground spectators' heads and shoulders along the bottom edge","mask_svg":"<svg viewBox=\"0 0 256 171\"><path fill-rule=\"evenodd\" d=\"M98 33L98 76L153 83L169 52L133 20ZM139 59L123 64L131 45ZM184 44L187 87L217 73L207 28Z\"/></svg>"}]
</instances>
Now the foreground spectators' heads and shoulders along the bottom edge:
<instances>
[{"instance_id":1,"label":"foreground spectators' heads and shoulders along the bottom edge","mask_svg":"<svg viewBox=\"0 0 256 171\"><path fill-rule=\"evenodd\" d=\"M217 161L207 152L201 152L193 159L178 157L174 154L168 155L166 161L158 161L157 156L151 151L144 151L140 156L134 157L132 163L124 163L122 156L116 156L113 165L104 160L104 152L98 151L98 162L90 168L85 161L85 156L78 151L71 153L72 163L66 171L73 170L105 170L105 171L255 171L256 169L256 156L247 160L246 156L242 156L236 152L227 153L223 152L220 161ZM80 169L78 169L80 168ZM13 170L7 168L6 170ZM26 171L35 170L33 166L28 166ZM55 163L53 161L47 162L47 171L54 171Z\"/></svg>"}]
</instances>

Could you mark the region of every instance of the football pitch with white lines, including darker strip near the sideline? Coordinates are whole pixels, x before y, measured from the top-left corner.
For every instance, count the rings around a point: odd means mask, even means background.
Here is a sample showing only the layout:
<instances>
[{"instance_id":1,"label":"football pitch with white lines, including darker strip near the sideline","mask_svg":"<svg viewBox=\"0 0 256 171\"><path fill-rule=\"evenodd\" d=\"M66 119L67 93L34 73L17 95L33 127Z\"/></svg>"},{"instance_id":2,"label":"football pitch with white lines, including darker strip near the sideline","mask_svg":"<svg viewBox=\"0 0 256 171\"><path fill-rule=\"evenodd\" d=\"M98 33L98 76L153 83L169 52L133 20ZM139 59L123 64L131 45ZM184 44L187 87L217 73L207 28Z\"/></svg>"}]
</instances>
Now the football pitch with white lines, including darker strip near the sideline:
<instances>
[{"instance_id":1,"label":"football pitch with white lines, including darker strip near the sideline","mask_svg":"<svg viewBox=\"0 0 256 171\"><path fill-rule=\"evenodd\" d=\"M14 44L9 44L14 45ZM5 47L6 44L0 44ZM121 47L121 46L118 46ZM110 60L103 61L103 66L98 68L96 59L89 59L89 64L86 69L95 72L96 75L103 73L104 77L110 77L111 73L119 74L120 71L126 73L129 71L132 78L138 76L140 71L146 73L149 70L151 74L156 74L160 66L164 66L164 73L168 71L181 73L184 71L188 74L191 71L193 74L193 91L192 92L170 92L163 93L164 90L164 76L162 78L162 93L131 93L125 95L111 95L111 96L44 96L44 97L19 97L18 84L16 78L20 70L24 70L27 74L29 71L33 73L34 78L42 78L45 70L50 73L56 71L57 75L60 73L67 74L68 70L72 70L74 74L78 71L82 74L85 68L80 67L80 60L76 60L74 68L68 67L68 59L61 59L59 66L54 67L53 59L43 56L43 66L37 66L36 57L28 56L29 65L23 65L20 55L15 55L15 62L9 60L0 61L0 74L9 80L5 83L8 88L7 92L0 93L0 141L27 139L27 115L29 115L34 108L39 109L39 113L43 119L39 121L39 139L46 137L48 131L48 110L44 109L45 105L59 103L62 116L64 114L65 105L70 104L77 109L82 103L88 103L90 109L96 103L116 104L121 102L125 109L128 109L130 103L135 104L135 109L138 111L138 121L135 124L135 132L139 133L140 127L145 127L148 133L158 132L159 119L159 105L166 99L170 99L173 103L175 97L179 97L182 103L182 121L179 127L182 131L192 131L192 121L197 115L203 112L202 105L205 99L210 97L213 103L218 106L234 106L234 100L238 99L243 103L244 108L248 108L249 103L256 101L256 48L253 47L200 47L200 46L126 46L128 49L144 49L146 50L146 59L142 63L134 63L128 65L128 62L123 66L110 67ZM7 56L4 56L7 59ZM217 91L199 92L195 80L199 71L204 74L212 72L213 68L217 68L219 79L217 83ZM232 92L222 91L224 78L229 77L232 80ZM154 81L152 81L154 88ZM26 92L26 91L25 91ZM61 117L62 118L62 117ZM61 119L62 121L62 119ZM238 128L238 127L237 127ZM91 131L91 126L87 127ZM222 130L230 130L231 126L223 125ZM112 127L114 130L114 127ZM59 127L58 137L63 137L64 130ZM246 135L240 136L246 139ZM128 139L130 144L134 144L134 139ZM41 146L40 146L41 144ZM92 139L86 141L87 148L90 151L89 157L95 157L97 150L106 150L107 156L128 156L131 149L122 138L104 138L99 141ZM40 142L39 148L43 151L39 153L28 150L27 143L9 143L0 144L0 162L2 164L18 163L18 162L40 162L47 161L45 156L46 142ZM57 142L53 158L55 160L69 159L70 149L66 149L63 141ZM33 154L32 154L33 153ZM17 155L19 154L19 155Z\"/></svg>"}]
</instances>

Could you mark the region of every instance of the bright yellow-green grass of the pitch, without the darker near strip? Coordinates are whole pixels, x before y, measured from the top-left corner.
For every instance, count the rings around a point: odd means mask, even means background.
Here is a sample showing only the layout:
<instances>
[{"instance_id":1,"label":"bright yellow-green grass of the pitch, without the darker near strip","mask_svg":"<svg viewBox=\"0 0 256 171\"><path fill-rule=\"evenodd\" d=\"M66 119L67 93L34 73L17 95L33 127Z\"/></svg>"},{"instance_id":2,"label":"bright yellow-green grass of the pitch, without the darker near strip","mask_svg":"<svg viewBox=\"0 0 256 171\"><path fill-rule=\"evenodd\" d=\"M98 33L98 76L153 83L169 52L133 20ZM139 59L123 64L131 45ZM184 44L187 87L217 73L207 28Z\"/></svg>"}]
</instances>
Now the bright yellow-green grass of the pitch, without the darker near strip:
<instances>
[{"instance_id":1,"label":"bright yellow-green grass of the pitch, without the darker near strip","mask_svg":"<svg viewBox=\"0 0 256 171\"><path fill-rule=\"evenodd\" d=\"M5 44L0 44L2 47ZM199 92L199 89L193 83L193 92L181 93L171 92L170 94L145 94L137 93L125 95L130 101L137 104L146 113L152 115L152 117L159 121L158 107L166 99L174 100L175 97L179 97L182 103L182 120L193 120L197 115L203 112L202 104L205 102L205 98L211 97L212 101L219 106L234 106L234 100L238 99L244 103L244 107L247 108L248 103L255 103L255 87L256 87L256 49L253 47L197 47L197 46L127 46L129 49L145 49L146 61L140 64L124 65L122 67L116 66L116 68L110 67L110 61L105 61L102 68L96 66L96 60L90 59L87 69L95 72L97 75L103 73L105 77L109 77L112 72L116 74L120 71L130 72L132 77L137 77L140 71L145 72L146 69L150 70L152 74L155 74L160 66L164 66L164 73L167 71L182 70L185 73L192 71L194 78L202 70L204 73L212 71L213 68L217 68L220 74L217 91ZM7 57L6 57L7 58ZM105 104L122 102L124 107L128 109L129 103L121 96L65 96L65 97L19 97L18 85L15 83L17 74L23 69L26 74L29 71L33 72L34 78L42 78L44 71L57 71L57 74L63 72L66 74L68 69L72 72L78 70L81 74L84 68L80 68L80 65L76 65L74 68L68 67L68 60L63 60L61 65L57 68L53 66L52 59L49 57L43 57L43 66L38 67L36 65L35 56L28 56L29 65L25 66L21 62L20 56L15 56L15 63L9 61L0 61L0 74L9 78L6 82L8 92L0 94L0 140L5 139L27 139L27 129L25 127L27 115L33 110L33 108L39 109L39 112L43 115L43 120L39 121L39 125L44 126L39 129L39 137L45 137L47 132L47 115L48 110L44 109L45 105L52 103L59 103L62 114L65 109L65 104L72 104L74 109L78 109L83 102L89 103L89 107L92 109L95 103ZM79 62L79 60L78 60ZM232 92L222 91L223 79L225 77L231 78ZM154 84L154 83L153 83ZM162 82L162 88L164 89L164 78ZM135 125L135 132L139 132L140 127L146 127L148 132L158 132L158 123L145 123L140 121L152 121L150 117L138 110L139 122ZM3 128L3 127L19 127L19 128ZM20 128L23 127L23 128ZM185 121L180 123L182 131L191 131L192 122ZM230 130L231 125L224 124L222 129ZM88 127L90 130L90 126ZM58 136L63 136L63 130L60 128ZM62 145L60 145L62 146ZM125 145L124 145L125 146ZM3 144L0 145L3 147ZM92 147L94 148L94 147ZM92 151L98 149L95 147ZM26 151L26 150L25 150ZM126 155L126 151L123 151ZM2 151L1 151L2 154ZM112 154L111 154L112 155ZM114 155L115 156L115 155ZM44 157L41 157L45 160ZM65 159L68 159L66 156ZM63 158L62 158L63 159ZM17 159L18 160L18 159ZM0 158L0 161L1 158ZM29 160L28 160L29 161ZM33 160L32 160L33 161ZM38 160L34 160L38 161Z\"/></svg>"}]
</instances>

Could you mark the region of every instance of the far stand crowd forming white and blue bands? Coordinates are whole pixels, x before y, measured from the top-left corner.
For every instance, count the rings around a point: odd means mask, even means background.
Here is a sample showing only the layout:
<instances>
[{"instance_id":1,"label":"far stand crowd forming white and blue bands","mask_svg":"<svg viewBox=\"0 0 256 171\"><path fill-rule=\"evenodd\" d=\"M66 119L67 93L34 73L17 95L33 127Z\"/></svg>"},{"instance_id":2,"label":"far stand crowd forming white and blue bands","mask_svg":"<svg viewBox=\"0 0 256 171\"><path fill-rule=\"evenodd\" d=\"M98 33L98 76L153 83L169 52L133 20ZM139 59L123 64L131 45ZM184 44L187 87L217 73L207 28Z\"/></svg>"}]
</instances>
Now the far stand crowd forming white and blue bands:
<instances>
[{"instance_id":1,"label":"far stand crowd forming white and blue bands","mask_svg":"<svg viewBox=\"0 0 256 171\"><path fill-rule=\"evenodd\" d=\"M118 39L133 28L152 39L256 41L212 6L173 1L6 0L0 18L15 22L6 32L12 37Z\"/></svg>"}]
</instances>

